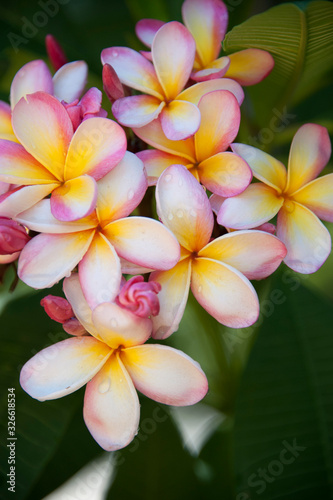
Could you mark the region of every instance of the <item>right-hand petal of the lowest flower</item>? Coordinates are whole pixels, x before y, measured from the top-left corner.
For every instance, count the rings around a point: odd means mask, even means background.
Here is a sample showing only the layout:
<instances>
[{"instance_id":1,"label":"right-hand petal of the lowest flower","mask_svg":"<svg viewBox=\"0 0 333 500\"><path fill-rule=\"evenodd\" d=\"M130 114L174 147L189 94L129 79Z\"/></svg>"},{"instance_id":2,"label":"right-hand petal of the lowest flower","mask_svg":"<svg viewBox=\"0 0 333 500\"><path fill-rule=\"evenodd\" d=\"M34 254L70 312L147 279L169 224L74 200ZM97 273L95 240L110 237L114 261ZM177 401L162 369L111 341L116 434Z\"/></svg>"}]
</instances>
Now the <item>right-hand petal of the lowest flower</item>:
<instances>
[{"instance_id":1,"label":"right-hand petal of the lowest flower","mask_svg":"<svg viewBox=\"0 0 333 500\"><path fill-rule=\"evenodd\" d=\"M122 360L136 389L154 401L189 406L207 394L208 382L199 363L178 349L132 347L123 351Z\"/></svg>"}]
</instances>

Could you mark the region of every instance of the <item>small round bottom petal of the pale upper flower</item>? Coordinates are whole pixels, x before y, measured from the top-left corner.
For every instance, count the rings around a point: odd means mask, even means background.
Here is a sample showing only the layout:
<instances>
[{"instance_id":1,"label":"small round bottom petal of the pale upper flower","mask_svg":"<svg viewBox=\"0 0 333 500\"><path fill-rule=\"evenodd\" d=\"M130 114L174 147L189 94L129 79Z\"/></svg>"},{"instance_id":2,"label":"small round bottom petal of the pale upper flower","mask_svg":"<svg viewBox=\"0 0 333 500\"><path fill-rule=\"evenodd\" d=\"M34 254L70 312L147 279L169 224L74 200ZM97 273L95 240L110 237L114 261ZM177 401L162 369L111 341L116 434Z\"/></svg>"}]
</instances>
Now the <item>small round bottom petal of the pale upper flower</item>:
<instances>
[{"instance_id":1,"label":"small round bottom petal of the pale upper flower","mask_svg":"<svg viewBox=\"0 0 333 500\"><path fill-rule=\"evenodd\" d=\"M161 126L167 139L182 141L196 133L200 126L200 111L186 101L171 101L160 115Z\"/></svg>"}]
</instances>

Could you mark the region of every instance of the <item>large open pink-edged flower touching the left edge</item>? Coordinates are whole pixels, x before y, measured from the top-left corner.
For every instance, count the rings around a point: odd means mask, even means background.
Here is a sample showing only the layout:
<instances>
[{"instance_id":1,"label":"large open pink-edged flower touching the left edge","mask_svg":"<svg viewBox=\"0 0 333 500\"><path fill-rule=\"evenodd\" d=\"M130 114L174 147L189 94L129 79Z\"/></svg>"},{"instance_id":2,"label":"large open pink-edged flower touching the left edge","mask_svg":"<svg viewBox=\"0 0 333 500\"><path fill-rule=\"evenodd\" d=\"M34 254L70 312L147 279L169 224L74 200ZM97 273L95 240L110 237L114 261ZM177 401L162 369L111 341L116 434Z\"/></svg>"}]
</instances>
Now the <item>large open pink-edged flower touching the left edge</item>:
<instances>
[{"instance_id":1,"label":"large open pink-edged flower touching the left edge","mask_svg":"<svg viewBox=\"0 0 333 500\"><path fill-rule=\"evenodd\" d=\"M6 193L0 215L13 217L50 193L57 219L89 215L96 205L96 181L125 154L123 129L107 118L90 118L73 133L64 106L45 92L21 98L12 123L20 144L0 139L0 181L30 189Z\"/></svg>"}]
</instances>

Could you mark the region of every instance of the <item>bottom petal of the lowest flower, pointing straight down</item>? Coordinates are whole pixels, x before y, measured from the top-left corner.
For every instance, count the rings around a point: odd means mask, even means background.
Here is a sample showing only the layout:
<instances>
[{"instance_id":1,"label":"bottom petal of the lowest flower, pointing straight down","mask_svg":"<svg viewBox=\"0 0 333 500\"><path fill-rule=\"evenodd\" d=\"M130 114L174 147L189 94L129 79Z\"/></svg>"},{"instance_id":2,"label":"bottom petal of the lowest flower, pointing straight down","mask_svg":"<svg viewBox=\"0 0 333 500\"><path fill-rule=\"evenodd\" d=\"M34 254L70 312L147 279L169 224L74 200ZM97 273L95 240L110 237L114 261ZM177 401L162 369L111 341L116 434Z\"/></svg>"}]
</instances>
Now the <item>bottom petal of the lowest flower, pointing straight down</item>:
<instances>
[{"instance_id":1,"label":"bottom petal of the lowest flower, pointing straight down","mask_svg":"<svg viewBox=\"0 0 333 500\"><path fill-rule=\"evenodd\" d=\"M111 356L87 384L83 417L95 441L106 451L124 448L134 439L140 405L118 354Z\"/></svg>"}]
</instances>

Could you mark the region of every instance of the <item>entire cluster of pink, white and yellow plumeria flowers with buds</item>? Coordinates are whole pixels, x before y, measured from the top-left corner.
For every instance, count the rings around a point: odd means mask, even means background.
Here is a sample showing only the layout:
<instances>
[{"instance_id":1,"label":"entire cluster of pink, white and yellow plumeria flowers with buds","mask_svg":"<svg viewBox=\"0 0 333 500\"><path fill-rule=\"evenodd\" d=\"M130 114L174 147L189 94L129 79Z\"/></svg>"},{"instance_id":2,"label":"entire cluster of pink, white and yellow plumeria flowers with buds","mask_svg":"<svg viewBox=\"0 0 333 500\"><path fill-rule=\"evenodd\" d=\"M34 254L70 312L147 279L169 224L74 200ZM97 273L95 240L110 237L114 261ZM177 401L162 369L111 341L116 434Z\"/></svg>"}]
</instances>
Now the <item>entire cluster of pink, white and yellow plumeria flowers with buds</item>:
<instances>
[{"instance_id":1,"label":"entire cluster of pink, white and yellow plumeria flowers with buds","mask_svg":"<svg viewBox=\"0 0 333 500\"><path fill-rule=\"evenodd\" d=\"M234 143L242 86L265 78L273 58L257 49L219 57L221 0L185 0L182 14L184 25L138 23L150 52L102 51L115 120L101 90L85 91L86 63L68 63L53 37L55 75L27 63L10 105L0 103L0 263L18 259L35 289L63 280L66 298L41 305L69 335L24 365L21 385L41 401L87 385L84 420L106 450L134 438L136 390L176 406L206 395L196 361L146 343L177 331L190 289L219 323L247 327L259 315L250 280L283 260L314 272L331 250L319 218L333 221L333 174L316 179L330 156L326 129L299 129L288 172Z\"/></svg>"}]
</instances>

